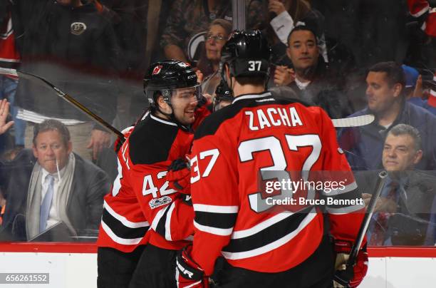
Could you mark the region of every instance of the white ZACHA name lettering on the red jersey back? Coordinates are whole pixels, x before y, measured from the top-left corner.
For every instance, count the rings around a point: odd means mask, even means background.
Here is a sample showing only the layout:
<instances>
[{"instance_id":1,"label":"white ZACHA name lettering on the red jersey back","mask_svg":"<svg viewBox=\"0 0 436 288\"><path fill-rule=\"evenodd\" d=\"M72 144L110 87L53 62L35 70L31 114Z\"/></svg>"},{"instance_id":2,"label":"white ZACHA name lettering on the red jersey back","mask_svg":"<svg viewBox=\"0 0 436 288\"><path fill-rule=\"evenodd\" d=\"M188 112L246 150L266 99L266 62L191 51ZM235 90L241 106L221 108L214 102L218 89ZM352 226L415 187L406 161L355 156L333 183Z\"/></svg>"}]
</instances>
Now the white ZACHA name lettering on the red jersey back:
<instances>
[{"instance_id":1,"label":"white ZACHA name lettering on the red jersey back","mask_svg":"<svg viewBox=\"0 0 436 288\"><path fill-rule=\"evenodd\" d=\"M301 118L295 107L286 108L259 108L254 111L245 111L245 115L249 117L249 129L256 131L271 126L302 126Z\"/></svg>"}]
</instances>

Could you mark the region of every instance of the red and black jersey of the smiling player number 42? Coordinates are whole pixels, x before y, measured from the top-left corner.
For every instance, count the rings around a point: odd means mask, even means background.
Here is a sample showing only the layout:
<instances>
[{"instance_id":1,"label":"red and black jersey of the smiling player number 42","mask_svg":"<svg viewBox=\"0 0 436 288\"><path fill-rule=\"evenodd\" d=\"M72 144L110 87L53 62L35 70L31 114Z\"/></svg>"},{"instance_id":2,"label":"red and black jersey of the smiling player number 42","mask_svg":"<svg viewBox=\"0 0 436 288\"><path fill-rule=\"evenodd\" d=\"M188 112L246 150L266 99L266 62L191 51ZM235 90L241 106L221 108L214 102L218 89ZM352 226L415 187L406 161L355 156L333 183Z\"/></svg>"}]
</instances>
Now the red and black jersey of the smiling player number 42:
<instances>
[{"instance_id":1,"label":"red and black jersey of the smiling player number 42","mask_svg":"<svg viewBox=\"0 0 436 288\"><path fill-rule=\"evenodd\" d=\"M207 115L206 106L197 109L196 123ZM105 196L98 246L129 252L150 242L178 250L192 240L194 211L168 187L165 175L173 160L190 153L193 138L190 129L151 114L135 126L118 152L118 177Z\"/></svg>"}]
</instances>

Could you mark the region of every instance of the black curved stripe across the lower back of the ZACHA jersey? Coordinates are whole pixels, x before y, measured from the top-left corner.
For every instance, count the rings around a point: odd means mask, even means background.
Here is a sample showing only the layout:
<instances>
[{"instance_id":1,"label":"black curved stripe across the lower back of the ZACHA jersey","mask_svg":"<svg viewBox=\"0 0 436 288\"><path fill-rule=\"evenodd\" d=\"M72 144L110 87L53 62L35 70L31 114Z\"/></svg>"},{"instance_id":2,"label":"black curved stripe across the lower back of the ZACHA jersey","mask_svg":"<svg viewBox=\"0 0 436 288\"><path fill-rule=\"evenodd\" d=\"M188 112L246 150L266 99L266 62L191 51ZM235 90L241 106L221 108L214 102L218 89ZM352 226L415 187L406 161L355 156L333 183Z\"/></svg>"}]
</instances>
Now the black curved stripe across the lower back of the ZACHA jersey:
<instances>
[{"instance_id":1,"label":"black curved stripe across the lower back of the ZACHA jersey","mask_svg":"<svg viewBox=\"0 0 436 288\"><path fill-rule=\"evenodd\" d=\"M286 217L284 220L274 223L265 229L248 237L232 239L229 245L222 249L223 252L237 253L255 250L289 235L292 231L298 229L304 218L308 216L313 207L307 207L301 212Z\"/></svg>"}]
</instances>

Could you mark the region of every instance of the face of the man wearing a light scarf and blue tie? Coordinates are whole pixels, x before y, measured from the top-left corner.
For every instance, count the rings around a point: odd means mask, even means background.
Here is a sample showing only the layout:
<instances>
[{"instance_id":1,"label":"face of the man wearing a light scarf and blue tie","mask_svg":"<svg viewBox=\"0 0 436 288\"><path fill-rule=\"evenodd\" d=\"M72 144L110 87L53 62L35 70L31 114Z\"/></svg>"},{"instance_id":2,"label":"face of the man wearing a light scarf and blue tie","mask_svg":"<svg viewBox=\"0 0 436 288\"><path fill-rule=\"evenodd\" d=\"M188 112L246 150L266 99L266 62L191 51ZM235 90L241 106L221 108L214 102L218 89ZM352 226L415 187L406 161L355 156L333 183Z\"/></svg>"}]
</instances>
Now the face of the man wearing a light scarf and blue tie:
<instances>
[{"instance_id":1,"label":"face of the man wearing a light scarf and blue tie","mask_svg":"<svg viewBox=\"0 0 436 288\"><path fill-rule=\"evenodd\" d=\"M65 145L61 134L57 130L38 133L35 142L36 144L32 146L33 155L38 160L38 164L48 173L57 172L56 160L59 170L68 163L68 155L70 155L72 147L71 142Z\"/></svg>"}]
</instances>

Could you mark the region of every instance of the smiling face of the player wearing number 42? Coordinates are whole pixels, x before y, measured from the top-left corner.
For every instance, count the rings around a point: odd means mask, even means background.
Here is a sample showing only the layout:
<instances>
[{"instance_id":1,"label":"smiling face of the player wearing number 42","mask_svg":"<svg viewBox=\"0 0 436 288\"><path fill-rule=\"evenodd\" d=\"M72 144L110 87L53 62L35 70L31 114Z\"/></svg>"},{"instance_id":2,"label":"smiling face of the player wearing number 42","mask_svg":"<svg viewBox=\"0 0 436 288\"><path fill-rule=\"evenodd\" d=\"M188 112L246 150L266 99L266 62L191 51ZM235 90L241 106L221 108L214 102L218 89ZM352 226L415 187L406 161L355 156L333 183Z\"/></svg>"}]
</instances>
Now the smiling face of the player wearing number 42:
<instances>
[{"instance_id":1,"label":"smiling face of the player wearing number 42","mask_svg":"<svg viewBox=\"0 0 436 288\"><path fill-rule=\"evenodd\" d=\"M171 104L175 118L185 125L194 123L194 112L198 103L198 89L194 87L181 88L175 90L173 93Z\"/></svg>"}]
</instances>

